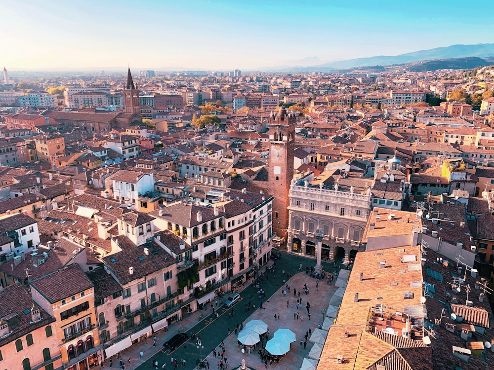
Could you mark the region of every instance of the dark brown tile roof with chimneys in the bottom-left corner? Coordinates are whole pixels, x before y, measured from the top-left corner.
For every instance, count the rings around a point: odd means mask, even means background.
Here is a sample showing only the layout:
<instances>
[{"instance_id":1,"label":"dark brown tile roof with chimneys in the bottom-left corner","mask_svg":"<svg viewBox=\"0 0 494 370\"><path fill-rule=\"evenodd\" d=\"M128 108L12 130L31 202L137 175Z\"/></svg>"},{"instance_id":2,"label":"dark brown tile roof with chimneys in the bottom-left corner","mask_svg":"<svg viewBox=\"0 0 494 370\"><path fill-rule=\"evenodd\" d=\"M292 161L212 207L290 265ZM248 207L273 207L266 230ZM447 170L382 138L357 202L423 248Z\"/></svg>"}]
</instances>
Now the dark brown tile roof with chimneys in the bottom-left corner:
<instances>
[{"instance_id":1,"label":"dark brown tile roof with chimneys in the bottom-left corner","mask_svg":"<svg viewBox=\"0 0 494 370\"><path fill-rule=\"evenodd\" d=\"M0 347L13 342L28 333L32 333L38 328L55 322L55 318L48 315L35 301L31 298L30 292L22 285L14 284L0 291L0 320L10 316L17 319L17 323L9 325L8 329L12 331L7 336L0 338ZM40 310L41 319L32 322L31 310ZM25 313L28 312L28 313ZM3 358L6 354L3 353Z\"/></svg>"}]
</instances>

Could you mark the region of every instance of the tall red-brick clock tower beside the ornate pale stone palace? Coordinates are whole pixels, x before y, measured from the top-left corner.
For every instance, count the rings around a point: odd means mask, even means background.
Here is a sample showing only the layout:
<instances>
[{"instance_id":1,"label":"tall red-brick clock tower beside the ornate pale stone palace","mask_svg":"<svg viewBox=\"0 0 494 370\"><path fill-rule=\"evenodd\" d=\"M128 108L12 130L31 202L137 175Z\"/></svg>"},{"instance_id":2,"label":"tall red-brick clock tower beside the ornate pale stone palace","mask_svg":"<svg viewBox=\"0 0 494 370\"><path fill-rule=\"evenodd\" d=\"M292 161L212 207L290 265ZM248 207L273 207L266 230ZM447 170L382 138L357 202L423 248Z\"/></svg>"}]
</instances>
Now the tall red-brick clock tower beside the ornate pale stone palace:
<instances>
[{"instance_id":1,"label":"tall red-brick clock tower beside the ornate pale stone palace","mask_svg":"<svg viewBox=\"0 0 494 370\"><path fill-rule=\"evenodd\" d=\"M273 231L280 237L287 236L288 192L293 179L295 150L295 113L285 107L269 116L269 179L268 191L273 201Z\"/></svg>"}]
</instances>

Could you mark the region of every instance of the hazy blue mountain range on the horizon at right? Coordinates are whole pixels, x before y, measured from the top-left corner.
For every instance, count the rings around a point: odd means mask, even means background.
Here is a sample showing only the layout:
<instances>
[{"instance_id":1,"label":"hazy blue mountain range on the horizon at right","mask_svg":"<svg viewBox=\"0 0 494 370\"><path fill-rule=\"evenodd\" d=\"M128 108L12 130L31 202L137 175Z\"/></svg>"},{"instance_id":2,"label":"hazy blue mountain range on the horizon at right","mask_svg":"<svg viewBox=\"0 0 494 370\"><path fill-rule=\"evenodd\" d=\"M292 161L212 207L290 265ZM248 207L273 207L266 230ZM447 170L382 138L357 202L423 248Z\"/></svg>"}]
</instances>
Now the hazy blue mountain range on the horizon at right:
<instances>
[{"instance_id":1,"label":"hazy blue mountain range on the horizon at right","mask_svg":"<svg viewBox=\"0 0 494 370\"><path fill-rule=\"evenodd\" d=\"M357 58L330 62L313 66L316 70L322 69L348 69L362 66L391 66L432 59L464 58L464 57L490 57L494 56L494 43L475 45L451 45L436 47L429 50L419 50L412 53L395 56L379 55L369 58ZM309 67L310 69L311 67Z\"/></svg>"}]
</instances>

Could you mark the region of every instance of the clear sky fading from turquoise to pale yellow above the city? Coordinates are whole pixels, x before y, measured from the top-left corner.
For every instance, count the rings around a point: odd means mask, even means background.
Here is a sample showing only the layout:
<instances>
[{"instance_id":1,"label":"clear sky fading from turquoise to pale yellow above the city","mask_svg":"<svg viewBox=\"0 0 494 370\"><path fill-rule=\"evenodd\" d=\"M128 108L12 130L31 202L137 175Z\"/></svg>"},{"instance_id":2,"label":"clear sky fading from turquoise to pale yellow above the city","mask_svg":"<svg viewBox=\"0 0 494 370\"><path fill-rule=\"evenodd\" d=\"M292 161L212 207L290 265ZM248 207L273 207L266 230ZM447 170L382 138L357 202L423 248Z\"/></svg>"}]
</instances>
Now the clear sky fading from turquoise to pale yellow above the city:
<instances>
[{"instance_id":1,"label":"clear sky fading from turquoise to pale yellow above the city","mask_svg":"<svg viewBox=\"0 0 494 370\"><path fill-rule=\"evenodd\" d=\"M322 64L494 42L494 1L2 0L0 68Z\"/></svg>"}]
</instances>

